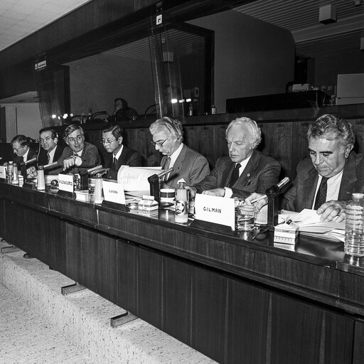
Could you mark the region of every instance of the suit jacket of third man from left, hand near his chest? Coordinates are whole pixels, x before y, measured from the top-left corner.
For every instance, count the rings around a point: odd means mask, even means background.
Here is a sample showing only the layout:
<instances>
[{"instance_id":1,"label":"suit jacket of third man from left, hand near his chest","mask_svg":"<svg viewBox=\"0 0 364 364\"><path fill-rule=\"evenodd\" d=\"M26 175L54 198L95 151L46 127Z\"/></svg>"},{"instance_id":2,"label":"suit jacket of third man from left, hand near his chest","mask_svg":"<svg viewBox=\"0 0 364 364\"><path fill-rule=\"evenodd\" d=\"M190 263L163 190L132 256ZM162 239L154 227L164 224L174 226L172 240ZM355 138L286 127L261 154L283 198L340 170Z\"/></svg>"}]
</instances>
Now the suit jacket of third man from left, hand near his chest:
<instances>
[{"instance_id":1,"label":"suit jacket of third man from left, hand near his chest","mask_svg":"<svg viewBox=\"0 0 364 364\"><path fill-rule=\"evenodd\" d=\"M60 167L51 170L49 174L58 174L63 172L63 161L70 158L70 156L73 156L73 150L70 148L70 146L66 146L65 149L63 149L62 156L60 156L60 159L58 159ZM73 166L68 169L70 173L80 173L80 175L85 175L87 174L88 168L92 168L101 164L101 157L96 146L87 143L87 141L85 141L85 145L83 146L81 159L82 164L79 167Z\"/></svg>"}]
</instances>

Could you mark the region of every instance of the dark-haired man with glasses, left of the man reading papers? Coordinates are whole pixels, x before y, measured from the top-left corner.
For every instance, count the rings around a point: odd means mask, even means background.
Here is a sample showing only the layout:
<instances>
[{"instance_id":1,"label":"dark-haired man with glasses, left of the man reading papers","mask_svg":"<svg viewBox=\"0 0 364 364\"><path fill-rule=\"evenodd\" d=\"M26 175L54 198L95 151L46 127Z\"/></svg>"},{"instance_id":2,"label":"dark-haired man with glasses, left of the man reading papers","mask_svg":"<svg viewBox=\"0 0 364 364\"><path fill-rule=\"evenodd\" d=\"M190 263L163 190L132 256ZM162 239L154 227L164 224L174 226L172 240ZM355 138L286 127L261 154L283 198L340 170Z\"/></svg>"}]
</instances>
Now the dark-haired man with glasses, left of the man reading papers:
<instances>
[{"instance_id":1,"label":"dark-haired man with glasses, left of the man reading papers","mask_svg":"<svg viewBox=\"0 0 364 364\"><path fill-rule=\"evenodd\" d=\"M109 154L105 161L107 178L117 179L121 166L141 166L141 155L122 144L122 128L117 124L107 124L102 128L102 145Z\"/></svg>"}]
</instances>

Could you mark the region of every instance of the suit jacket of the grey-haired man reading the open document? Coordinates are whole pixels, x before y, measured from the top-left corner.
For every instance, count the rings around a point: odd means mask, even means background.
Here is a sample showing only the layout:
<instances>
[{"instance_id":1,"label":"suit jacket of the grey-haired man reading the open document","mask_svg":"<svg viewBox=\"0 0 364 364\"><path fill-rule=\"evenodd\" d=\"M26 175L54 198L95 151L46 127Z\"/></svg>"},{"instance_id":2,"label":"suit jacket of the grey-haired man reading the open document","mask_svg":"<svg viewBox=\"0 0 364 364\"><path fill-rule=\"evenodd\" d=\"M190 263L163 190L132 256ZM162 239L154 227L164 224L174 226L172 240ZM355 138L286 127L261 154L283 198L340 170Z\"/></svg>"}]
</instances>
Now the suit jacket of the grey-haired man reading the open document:
<instances>
[{"instance_id":1,"label":"suit jacket of the grey-haired man reading the open document","mask_svg":"<svg viewBox=\"0 0 364 364\"><path fill-rule=\"evenodd\" d=\"M161 160L161 166L166 164L164 156ZM164 188L178 188L178 180L183 178L186 181L187 186L192 186L205 178L210 173L210 167L208 166L208 160L197 151L188 148L183 144L181 153L173 164L173 171L169 173L168 178L163 183Z\"/></svg>"}]
</instances>

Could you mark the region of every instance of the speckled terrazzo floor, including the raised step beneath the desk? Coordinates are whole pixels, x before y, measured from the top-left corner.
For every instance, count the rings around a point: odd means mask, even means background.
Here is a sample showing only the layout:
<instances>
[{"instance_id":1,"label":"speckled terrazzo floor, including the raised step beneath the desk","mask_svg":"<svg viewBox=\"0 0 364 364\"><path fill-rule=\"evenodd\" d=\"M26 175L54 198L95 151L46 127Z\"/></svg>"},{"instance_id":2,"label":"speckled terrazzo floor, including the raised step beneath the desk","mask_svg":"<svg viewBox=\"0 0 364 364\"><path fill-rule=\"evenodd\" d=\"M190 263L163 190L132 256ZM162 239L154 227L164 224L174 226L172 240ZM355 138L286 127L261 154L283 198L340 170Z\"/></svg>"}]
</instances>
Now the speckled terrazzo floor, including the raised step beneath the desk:
<instances>
[{"instance_id":1,"label":"speckled terrazzo floor, including the raised step beneath the desk","mask_svg":"<svg viewBox=\"0 0 364 364\"><path fill-rule=\"evenodd\" d=\"M23 253L0 253L0 364L215 363L141 319L112 328L122 308L89 289L63 296L74 282Z\"/></svg>"}]
</instances>

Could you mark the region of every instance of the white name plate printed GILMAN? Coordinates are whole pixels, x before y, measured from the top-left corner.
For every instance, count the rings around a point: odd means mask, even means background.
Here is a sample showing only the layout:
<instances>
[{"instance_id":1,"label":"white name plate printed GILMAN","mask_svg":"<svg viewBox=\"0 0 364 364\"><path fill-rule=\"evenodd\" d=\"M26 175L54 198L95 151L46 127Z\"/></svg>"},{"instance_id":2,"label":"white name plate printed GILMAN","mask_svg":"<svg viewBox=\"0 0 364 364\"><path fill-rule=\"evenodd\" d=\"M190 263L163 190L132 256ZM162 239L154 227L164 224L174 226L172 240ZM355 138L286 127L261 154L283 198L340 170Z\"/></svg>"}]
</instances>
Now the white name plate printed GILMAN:
<instances>
[{"instance_id":1,"label":"white name plate printed GILMAN","mask_svg":"<svg viewBox=\"0 0 364 364\"><path fill-rule=\"evenodd\" d=\"M235 230L235 201L233 198L196 194L195 217L220 225L230 226Z\"/></svg>"}]
</instances>

